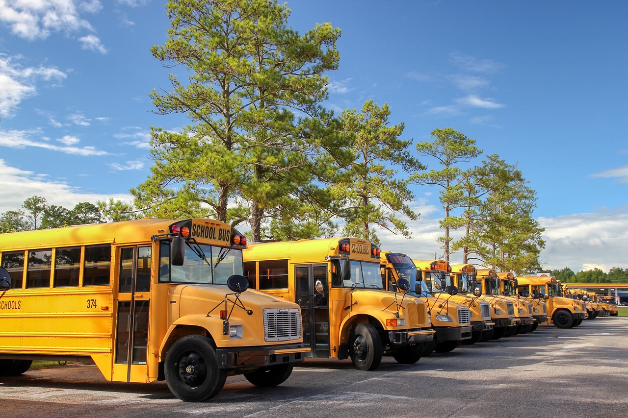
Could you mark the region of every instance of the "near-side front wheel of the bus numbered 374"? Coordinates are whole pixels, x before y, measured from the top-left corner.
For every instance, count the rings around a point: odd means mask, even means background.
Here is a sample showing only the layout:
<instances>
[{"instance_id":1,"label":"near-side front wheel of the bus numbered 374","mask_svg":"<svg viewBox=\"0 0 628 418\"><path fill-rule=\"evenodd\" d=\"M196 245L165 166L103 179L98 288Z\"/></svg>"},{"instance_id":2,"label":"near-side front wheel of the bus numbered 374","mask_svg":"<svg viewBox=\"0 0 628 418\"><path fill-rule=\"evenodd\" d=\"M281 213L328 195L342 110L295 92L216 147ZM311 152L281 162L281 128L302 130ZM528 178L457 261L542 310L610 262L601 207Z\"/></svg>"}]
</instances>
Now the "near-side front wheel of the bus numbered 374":
<instances>
[{"instance_id":1,"label":"near-side front wheel of the bus numbered 374","mask_svg":"<svg viewBox=\"0 0 628 418\"><path fill-rule=\"evenodd\" d=\"M185 402L214 397L227 380L227 370L218 368L214 347L202 335L176 340L166 353L164 372L171 392Z\"/></svg>"}]
</instances>

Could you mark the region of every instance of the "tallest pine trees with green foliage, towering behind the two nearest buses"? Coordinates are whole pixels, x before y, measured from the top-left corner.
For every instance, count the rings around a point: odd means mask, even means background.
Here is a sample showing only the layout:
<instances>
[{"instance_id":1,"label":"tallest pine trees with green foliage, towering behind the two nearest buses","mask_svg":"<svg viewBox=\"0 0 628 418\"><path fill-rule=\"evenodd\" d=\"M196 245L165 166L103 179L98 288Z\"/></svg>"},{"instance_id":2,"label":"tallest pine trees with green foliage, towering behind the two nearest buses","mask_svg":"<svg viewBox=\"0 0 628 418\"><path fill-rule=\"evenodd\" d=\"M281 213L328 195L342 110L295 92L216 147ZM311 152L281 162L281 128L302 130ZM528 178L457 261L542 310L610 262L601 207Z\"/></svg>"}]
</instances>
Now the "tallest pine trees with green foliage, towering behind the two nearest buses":
<instances>
[{"instance_id":1,"label":"tallest pine trees with green foliage, towering behind the two nearest buses","mask_svg":"<svg viewBox=\"0 0 628 418\"><path fill-rule=\"evenodd\" d=\"M181 132L153 128L154 166L132 190L133 206L149 215L246 221L252 240L283 233L278 219L307 224L310 235L317 223L300 218L310 213L300 206L326 199L312 185L327 180L320 163L332 161L327 151L337 147L320 102L322 74L338 66L340 31L319 24L299 35L288 27L290 11L271 0L166 7L168 40L151 52L166 67L184 68L187 81L171 73L171 91L151 97L158 114L186 114L192 124Z\"/></svg>"}]
</instances>

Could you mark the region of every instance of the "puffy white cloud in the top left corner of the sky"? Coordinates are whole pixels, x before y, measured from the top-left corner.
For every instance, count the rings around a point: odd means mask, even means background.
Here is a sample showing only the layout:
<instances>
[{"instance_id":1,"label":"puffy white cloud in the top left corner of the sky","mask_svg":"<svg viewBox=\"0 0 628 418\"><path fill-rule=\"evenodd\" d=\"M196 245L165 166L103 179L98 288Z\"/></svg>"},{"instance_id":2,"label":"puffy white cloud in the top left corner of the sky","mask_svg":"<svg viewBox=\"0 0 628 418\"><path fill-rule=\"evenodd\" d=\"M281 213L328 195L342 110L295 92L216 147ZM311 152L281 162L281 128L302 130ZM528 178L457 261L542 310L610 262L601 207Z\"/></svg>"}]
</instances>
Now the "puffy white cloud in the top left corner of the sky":
<instances>
[{"instance_id":1,"label":"puffy white cloud in the top left corner of the sky","mask_svg":"<svg viewBox=\"0 0 628 418\"><path fill-rule=\"evenodd\" d=\"M93 32L92 25L80 18L75 3L74 0L0 1L0 21L14 35L28 40L45 39L53 32ZM99 10L97 1L78 4L90 13Z\"/></svg>"}]
</instances>

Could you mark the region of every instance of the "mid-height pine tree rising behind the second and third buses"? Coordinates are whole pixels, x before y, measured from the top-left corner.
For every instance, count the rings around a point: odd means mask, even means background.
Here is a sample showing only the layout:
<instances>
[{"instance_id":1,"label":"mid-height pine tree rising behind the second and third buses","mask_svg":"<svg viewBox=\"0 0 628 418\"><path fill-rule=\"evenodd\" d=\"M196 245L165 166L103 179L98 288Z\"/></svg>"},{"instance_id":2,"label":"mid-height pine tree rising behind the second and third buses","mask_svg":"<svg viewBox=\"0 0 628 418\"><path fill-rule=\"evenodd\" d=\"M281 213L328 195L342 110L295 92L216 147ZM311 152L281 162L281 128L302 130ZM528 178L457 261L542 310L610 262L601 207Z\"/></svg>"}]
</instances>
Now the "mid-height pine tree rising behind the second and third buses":
<instances>
[{"instance_id":1,"label":"mid-height pine tree rising behind the second and third buses","mask_svg":"<svg viewBox=\"0 0 628 418\"><path fill-rule=\"evenodd\" d=\"M354 158L330 187L333 199L344 203L346 221L342 235L362 237L379 244L376 229L384 228L406 238L411 232L400 213L411 220L418 219L408 201L414 196L407 180L397 178L397 166L404 171L424 169L408 152L411 141L399 139L403 124L389 126L388 105L379 107L367 100L362 110L345 110L340 115L345 147Z\"/></svg>"}]
</instances>

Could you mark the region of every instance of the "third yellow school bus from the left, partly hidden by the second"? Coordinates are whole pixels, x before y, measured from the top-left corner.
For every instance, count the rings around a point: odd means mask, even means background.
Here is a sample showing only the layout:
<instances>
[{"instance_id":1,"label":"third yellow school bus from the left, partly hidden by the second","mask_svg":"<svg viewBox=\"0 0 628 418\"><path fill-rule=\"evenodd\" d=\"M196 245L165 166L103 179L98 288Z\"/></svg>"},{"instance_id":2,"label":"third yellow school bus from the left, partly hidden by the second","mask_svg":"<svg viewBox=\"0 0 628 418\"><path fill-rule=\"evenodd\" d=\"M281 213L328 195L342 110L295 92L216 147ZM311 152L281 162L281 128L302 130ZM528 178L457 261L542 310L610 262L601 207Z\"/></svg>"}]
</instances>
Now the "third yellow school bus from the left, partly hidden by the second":
<instances>
[{"instance_id":1,"label":"third yellow school bus from the left, partly hidden by the second","mask_svg":"<svg viewBox=\"0 0 628 418\"><path fill-rule=\"evenodd\" d=\"M450 301L441 294L432 295L425 286L423 272L414 265L413 260L406 254L382 251L382 280L387 290L397 291L400 279L410 282L406 294L425 299L431 317L432 328L436 331L434 341L423 351L423 355L430 355L432 351L448 353L459 346L463 341L471 338L471 312L463 304ZM453 293L453 292L452 292ZM442 297L441 297L442 296Z\"/></svg>"}]
</instances>

